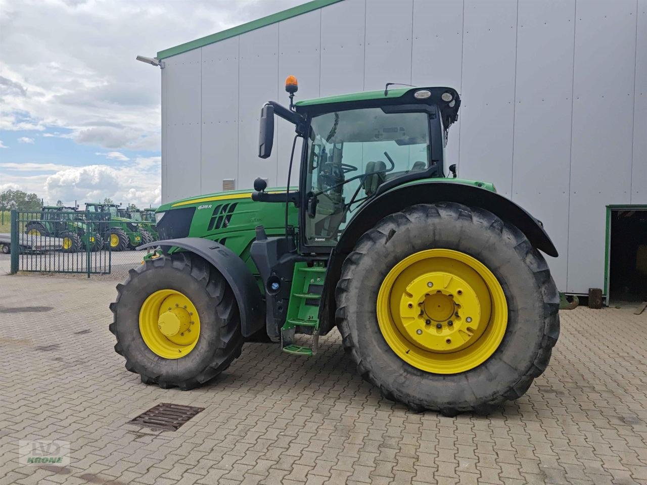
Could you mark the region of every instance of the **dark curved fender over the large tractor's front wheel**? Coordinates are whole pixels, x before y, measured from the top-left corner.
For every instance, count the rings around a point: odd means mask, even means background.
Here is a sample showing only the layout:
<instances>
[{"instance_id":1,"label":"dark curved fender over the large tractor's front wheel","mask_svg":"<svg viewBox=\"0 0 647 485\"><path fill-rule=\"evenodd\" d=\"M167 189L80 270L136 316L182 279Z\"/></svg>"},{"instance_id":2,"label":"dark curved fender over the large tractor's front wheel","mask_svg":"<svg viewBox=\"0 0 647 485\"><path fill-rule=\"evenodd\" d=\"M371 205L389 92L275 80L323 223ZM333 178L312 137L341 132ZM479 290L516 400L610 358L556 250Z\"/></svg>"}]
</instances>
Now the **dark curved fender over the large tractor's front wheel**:
<instances>
[{"instance_id":1,"label":"dark curved fender over the large tractor's front wheel","mask_svg":"<svg viewBox=\"0 0 647 485\"><path fill-rule=\"evenodd\" d=\"M175 246L182 248L211 263L232 288L241 315L241 332L244 337L252 336L265 325L263 297L254 276L245 262L232 250L219 242L201 237L182 237L164 241L149 242L138 246L138 250L161 246L164 253Z\"/></svg>"}]
</instances>

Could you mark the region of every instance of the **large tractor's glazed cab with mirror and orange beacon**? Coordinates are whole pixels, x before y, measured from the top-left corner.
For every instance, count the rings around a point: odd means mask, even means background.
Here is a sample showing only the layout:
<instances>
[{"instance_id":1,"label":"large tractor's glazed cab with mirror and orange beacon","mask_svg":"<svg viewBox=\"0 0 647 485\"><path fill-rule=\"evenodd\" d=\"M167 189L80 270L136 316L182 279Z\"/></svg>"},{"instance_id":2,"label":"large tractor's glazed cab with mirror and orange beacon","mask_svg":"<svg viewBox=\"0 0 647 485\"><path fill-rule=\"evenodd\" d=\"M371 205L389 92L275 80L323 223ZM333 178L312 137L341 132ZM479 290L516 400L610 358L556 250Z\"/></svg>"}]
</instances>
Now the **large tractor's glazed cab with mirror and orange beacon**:
<instances>
[{"instance_id":1,"label":"large tractor's glazed cab with mirror and orange beacon","mask_svg":"<svg viewBox=\"0 0 647 485\"><path fill-rule=\"evenodd\" d=\"M257 180L261 190L252 199L300 206L302 252L329 253L358 209L390 188L450 173L455 177L455 167L444 163L447 131L461 104L454 89L387 85L384 91L294 105L293 95L290 108L276 102L263 107L259 156L271 154L274 115L292 122L294 142L302 138L300 189L267 194Z\"/></svg>"}]
</instances>

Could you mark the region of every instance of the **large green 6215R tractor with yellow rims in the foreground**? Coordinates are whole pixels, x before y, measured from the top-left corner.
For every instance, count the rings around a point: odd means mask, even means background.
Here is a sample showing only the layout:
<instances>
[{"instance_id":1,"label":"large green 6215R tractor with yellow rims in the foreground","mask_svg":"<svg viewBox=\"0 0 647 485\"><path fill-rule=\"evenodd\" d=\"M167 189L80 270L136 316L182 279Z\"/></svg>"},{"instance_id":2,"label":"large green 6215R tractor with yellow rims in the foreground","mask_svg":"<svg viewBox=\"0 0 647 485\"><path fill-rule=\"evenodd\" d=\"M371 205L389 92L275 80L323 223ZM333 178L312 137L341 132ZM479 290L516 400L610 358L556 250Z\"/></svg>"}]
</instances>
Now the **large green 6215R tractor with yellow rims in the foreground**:
<instances>
[{"instance_id":1,"label":"large green 6215R tractor with yellow rims in the foreground","mask_svg":"<svg viewBox=\"0 0 647 485\"><path fill-rule=\"evenodd\" d=\"M459 94L387 85L293 105L293 81L289 108L261 111L259 156L274 116L294 125L298 188L258 178L253 192L160 206L160 241L142 246L160 250L110 306L126 369L192 389L245 341L311 356L337 327L362 377L411 409L488 413L519 398L559 335L542 255L557 251L542 222L447 166Z\"/></svg>"}]
</instances>

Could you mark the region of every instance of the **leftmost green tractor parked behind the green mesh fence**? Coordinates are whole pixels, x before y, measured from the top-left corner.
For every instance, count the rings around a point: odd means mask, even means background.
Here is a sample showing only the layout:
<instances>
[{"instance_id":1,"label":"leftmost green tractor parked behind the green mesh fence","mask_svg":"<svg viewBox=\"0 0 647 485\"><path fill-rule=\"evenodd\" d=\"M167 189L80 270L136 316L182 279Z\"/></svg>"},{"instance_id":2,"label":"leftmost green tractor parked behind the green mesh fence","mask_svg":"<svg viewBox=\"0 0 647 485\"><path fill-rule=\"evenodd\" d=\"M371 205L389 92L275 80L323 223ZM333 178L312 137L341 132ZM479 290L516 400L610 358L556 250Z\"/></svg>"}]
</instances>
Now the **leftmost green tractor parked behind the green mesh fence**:
<instances>
[{"instance_id":1,"label":"leftmost green tractor parked behind the green mesh fence","mask_svg":"<svg viewBox=\"0 0 647 485\"><path fill-rule=\"evenodd\" d=\"M91 251L100 251L104 240L97 232L89 232L88 222L83 221L76 207L43 206L38 221L27 222L25 233L32 236L58 237L62 239L61 250L76 253L89 246Z\"/></svg>"}]
</instances>

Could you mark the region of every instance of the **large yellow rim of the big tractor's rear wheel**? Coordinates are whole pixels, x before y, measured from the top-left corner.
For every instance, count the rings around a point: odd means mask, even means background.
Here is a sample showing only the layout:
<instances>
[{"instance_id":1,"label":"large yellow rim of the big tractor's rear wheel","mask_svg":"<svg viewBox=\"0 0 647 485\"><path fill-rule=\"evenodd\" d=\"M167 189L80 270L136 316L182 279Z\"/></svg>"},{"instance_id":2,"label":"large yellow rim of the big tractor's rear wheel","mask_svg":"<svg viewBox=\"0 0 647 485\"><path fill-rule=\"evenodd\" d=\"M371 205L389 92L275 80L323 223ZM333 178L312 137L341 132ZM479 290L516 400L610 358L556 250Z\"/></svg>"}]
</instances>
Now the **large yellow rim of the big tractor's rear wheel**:
<instances>
[{"instance_id":1,"label":"large yellow rim of the big tractor's rear wheel","mask_svg":"<svg viewBox=\"0 0 647 485\"><path fill-rule=\"evenodd\" d=\"M498 349L508 320L501 284L465 253L431 249L393 266L377 297L382 336L422 371L457 374Z\"/></svg>"}]
</instances>

